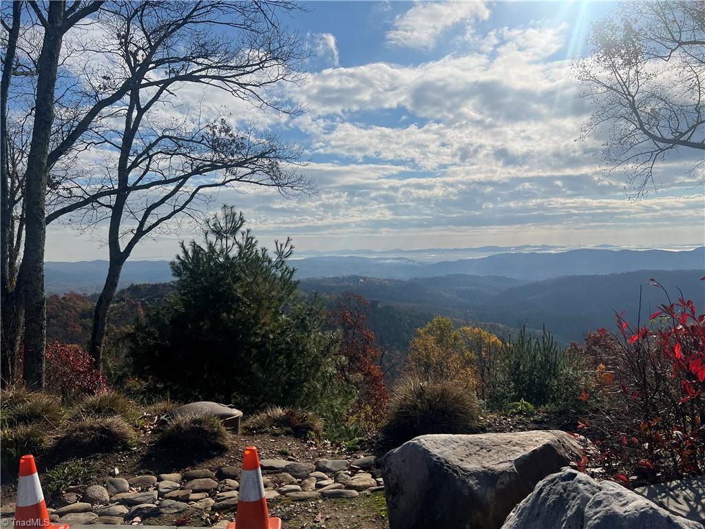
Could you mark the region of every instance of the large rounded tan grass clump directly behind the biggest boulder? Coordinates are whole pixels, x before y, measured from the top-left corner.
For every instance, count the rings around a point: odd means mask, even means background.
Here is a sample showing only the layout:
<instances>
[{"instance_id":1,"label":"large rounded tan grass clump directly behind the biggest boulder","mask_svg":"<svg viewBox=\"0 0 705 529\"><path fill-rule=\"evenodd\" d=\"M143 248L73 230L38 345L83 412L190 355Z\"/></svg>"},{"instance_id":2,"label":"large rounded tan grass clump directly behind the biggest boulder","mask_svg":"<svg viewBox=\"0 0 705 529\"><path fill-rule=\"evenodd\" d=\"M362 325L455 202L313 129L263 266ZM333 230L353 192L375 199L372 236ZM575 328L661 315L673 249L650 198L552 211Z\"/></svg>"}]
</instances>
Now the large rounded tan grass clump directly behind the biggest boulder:
<instances>
[{"instance_id":1,"label":"large rounded tan grass clump directly behind the biggest boulder","mask_svg":"<svg viewBox=\"0 0 705 529\"><path fill-rule=\"evenodd\" d=\"M405 377L393 389L385 436L394 444L423 434L461 434L477 425L477 396L451 380Z\"/></svg>"}]
</instances>

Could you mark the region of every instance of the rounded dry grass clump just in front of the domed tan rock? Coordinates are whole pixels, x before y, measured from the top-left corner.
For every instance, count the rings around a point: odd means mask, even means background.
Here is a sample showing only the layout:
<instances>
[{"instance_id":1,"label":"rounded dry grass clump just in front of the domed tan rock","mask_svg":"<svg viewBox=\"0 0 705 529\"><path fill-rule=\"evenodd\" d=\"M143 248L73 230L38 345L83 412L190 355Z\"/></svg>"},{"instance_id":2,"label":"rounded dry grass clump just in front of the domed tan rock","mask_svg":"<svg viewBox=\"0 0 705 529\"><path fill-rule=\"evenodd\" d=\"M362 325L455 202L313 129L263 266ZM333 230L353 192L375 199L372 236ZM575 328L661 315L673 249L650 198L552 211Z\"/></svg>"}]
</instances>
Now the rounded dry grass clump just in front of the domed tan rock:
<instances>
[{"instance_id":1,"label":"rounded dry grass clump just in front of the domed tan rock","mask_svg":"<svg viewBox=\"0 0 705 529\"><path fill-rule=\"evenodd\" d=\"M228 441L228 432L218 418L208 414L176 415L168 420L156 448L202 458L228 451Z\"/></svg>"}]
</instances>

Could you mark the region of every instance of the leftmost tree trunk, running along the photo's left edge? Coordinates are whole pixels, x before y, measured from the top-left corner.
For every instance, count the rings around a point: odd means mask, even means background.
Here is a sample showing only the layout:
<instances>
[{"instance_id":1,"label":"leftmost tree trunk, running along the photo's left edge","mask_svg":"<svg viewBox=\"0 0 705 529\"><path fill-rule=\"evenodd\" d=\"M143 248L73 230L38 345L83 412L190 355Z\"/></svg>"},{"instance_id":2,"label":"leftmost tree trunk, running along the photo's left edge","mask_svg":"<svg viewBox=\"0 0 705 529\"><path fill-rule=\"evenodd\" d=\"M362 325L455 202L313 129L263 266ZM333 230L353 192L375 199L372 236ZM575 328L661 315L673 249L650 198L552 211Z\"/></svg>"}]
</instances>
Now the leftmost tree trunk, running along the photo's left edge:
<instances>
[{"instance_id":1,"label":"leftmost tree trunk, running along the photo's left edge","mask_svg":"<svg viewBox=\"0 0 705 529\"><path fill-rule=\"evenodd\" d=\"M11 230L12 205L10 200L10 163L8 161L7 104L10 93L12 68L15 63L17 39L20 35L22 4L16 1L12 6L12 27L7 35L7 45L0 81L0 380L2 387L15 376L15 358L19 346L19 327L16 326L18 305L14 296L15 281L11 274L10 253L14 243ZM13 330L14 329L14 330Z\"/></svg>"}]
</instances>

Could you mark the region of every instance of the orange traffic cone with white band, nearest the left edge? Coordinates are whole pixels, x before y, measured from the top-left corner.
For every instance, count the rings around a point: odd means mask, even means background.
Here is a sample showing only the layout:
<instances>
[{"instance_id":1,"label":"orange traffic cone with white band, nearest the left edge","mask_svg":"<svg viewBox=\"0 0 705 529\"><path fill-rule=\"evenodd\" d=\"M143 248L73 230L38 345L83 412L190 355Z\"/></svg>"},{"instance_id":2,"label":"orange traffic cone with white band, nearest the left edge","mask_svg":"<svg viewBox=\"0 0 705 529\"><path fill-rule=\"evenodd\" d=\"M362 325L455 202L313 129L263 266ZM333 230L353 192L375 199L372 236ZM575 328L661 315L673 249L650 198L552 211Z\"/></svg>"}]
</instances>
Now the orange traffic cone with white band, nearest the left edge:
<instances>
[{"instance_id":1,"label":"orange traffic cone with white band, nearest the left edge","mask_svg":"<svg viewBox=\"0 0 705 529\"><path fill-rule=\"evenodd\" d=\"M42 485L39 485L35 458L34 456L22 456L20 458L20 478L17 482L15 529L69 529L69 527L69 525L52 525L49 521Z\"/></svg>"}]
</instances>

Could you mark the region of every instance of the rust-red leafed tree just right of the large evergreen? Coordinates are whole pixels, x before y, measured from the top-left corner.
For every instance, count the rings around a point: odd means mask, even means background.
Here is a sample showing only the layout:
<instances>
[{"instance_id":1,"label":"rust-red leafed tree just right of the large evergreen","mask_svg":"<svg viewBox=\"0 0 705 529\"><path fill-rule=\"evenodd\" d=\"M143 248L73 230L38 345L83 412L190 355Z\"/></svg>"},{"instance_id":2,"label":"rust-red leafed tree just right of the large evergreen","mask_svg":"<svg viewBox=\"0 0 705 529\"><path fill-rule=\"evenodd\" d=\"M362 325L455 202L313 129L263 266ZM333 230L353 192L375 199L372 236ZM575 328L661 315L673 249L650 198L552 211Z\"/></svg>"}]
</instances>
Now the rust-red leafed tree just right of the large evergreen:
<instances>
[{"instance_id":1,"label":"rust-red leafed tree just right of the large evergreen","mask_svg":"<svg viewBox=\"0 0 705 529\"><path fill-rule=\"evenodd\" d=\"M328 321L340 334L343 361L338 368L339 375L343 382L357 389L350 418L364 425L378 425L384 418L388 394L379 366L382 351L376 345L374 332L367 327L368 313L369 301L346 292L329 312Z\"/></svg>"}]
</instances>

